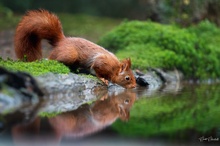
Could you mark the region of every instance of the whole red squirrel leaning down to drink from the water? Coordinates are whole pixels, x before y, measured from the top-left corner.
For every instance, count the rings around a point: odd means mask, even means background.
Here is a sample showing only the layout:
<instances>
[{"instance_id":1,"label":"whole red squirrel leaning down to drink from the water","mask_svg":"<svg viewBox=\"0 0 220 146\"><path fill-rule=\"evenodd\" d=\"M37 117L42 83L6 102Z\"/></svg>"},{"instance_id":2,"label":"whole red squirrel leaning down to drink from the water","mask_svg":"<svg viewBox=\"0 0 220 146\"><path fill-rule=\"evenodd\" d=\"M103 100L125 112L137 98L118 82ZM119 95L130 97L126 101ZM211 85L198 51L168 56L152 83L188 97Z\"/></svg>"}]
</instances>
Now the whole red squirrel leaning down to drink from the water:
<instances>
[{"instance_id":1,"label":"whole red squirrel leaning down to drink from the water","mask_svg":"<svg viewBox=\"0 0 220 146\"><path fill-rule=\"evenodd\" d=\"M41 40L53 46L49 59L66 65L87 68L108 85L108 81L124 88L135 88L136 81L131 70L131 60L118 58L103 47L83 38L66 37L59 18L47 10L28 11L15 32L15 53L27 61L42 58Z\"/></svg>"}]
</instances>

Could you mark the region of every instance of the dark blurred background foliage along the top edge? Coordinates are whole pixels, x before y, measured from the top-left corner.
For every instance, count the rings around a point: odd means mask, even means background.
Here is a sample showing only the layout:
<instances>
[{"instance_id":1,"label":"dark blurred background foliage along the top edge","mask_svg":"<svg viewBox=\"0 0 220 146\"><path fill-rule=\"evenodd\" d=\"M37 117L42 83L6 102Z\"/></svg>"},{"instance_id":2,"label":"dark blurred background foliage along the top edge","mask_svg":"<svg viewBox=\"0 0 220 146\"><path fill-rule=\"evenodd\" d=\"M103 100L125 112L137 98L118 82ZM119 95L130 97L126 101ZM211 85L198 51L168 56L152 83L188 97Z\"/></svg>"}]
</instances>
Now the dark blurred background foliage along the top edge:
<instances>
[{"instance_id":1,"label":"dark blurred background foliage along the top edge","mask_svg":"<svg viewBox=\"0 0 220 146\"><path fill-rule=\"evenodd\" d=\"M150 19L183 26L208 19L220 25L219 0L0 0L0 4L3 6L0 15L8 15L9 10L24 13L28 9L45 8L53 12Z\"/></svg>"}]
</instances>

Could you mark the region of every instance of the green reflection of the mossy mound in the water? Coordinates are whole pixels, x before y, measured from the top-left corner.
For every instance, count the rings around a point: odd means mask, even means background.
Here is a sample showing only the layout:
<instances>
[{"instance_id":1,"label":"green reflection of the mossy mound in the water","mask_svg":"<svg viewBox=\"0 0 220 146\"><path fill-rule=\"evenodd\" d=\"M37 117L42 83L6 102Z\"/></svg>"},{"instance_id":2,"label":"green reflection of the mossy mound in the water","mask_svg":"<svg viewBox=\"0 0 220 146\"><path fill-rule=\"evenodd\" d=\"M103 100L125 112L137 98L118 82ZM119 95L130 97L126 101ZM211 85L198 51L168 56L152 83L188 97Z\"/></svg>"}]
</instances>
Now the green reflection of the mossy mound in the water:
<instances>
[{"instance_id":1,"label":"green reflection of the mossy mound in the water","mask_svg":"<svg viewBox=\"0 0 220 146\"><path fill-rule=\"evenodd\" d=\"M113 129L130 136L186 137L189 136L184 135L187 130L205 134L218 128L219 86L201 86L194 91L190 88L176 97L139 99L132 107L130 120L127 123L117 121Z\"/></svg>"}]
</instances>

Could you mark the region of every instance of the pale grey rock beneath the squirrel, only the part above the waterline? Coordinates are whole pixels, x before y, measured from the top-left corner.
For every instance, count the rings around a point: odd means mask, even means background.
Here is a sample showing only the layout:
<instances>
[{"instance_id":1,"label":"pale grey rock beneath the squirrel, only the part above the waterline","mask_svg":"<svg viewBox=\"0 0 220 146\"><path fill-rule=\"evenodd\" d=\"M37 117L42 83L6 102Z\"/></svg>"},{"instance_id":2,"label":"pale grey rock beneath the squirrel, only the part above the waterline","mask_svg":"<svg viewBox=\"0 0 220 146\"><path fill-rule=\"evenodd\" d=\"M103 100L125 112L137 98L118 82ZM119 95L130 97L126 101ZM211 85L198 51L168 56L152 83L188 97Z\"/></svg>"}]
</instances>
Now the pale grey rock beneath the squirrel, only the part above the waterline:
<instances>
[{"instance_id":1,"label":"pale grey rock beneath the squirrel, only the part above the waterline","mask_svg":"<svg viewBox=\"0 0 220 146\"><path fill-rule=\"evenodd\" d=\"M36 77L40 88L47 94L56 94L61 92L86 92L97 86L104 86L99 80L88 78L83 75L73 73L69 74L54 74L48 73Z\"/></svg>"}]
</instances>

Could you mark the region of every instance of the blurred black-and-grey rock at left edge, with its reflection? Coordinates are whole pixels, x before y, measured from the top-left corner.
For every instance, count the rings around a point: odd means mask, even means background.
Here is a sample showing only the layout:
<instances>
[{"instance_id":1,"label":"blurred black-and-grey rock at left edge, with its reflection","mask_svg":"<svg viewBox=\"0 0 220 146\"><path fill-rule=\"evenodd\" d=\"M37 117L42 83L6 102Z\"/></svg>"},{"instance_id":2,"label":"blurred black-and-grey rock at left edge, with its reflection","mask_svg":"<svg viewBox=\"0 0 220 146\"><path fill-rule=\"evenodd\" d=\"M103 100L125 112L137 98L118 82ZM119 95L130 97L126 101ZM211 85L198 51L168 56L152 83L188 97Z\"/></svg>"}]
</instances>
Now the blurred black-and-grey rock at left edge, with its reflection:
<instances>
[{"instance_id":1,"label":"blurred black-and-grey rock at left edge, with its reflection","mask_svg":"<svg viewBox=\"0 0 220 146\"><path fill-rule=\"evenodd\" d=\"M29 74L9 72L0 67L0 113L36 104L42 96L43 92Z\"/></svg>"}]
</instances>

